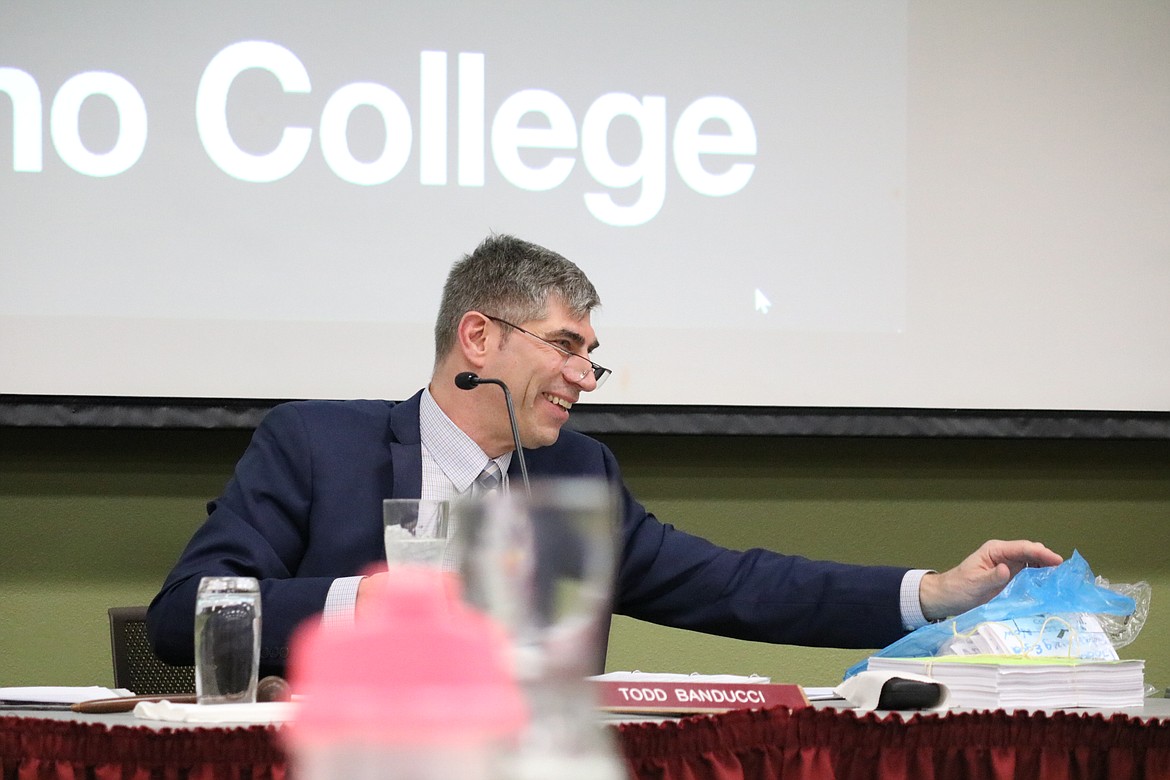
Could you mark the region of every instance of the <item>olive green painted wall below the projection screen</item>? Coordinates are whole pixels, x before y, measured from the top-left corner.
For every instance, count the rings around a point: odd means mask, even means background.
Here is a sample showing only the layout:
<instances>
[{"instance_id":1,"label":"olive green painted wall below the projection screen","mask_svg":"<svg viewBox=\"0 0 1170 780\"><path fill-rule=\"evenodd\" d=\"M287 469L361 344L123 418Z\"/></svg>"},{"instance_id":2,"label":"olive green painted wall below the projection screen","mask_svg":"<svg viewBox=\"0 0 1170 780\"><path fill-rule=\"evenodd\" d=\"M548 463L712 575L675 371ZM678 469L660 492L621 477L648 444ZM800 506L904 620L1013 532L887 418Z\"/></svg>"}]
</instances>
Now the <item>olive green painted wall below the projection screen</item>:
<instances>
[{"instance_id":1,"label":"olive green painted wall below the projection screen","mask_svg":"<svg viewBox=\"0 0 1170 780\"><path fill-rule=\"evenodd\" d=\"M0 428L0 685L112 683L106 607L150 600L248 435ZM1099 574L1154 586L1122 655L1170 685L1170 442L606 442L661 519L730 546L934 568L992 537L1076 547ZM608 665L827 685L860 657L618 619Z\"/></svg>"}]
</instances>

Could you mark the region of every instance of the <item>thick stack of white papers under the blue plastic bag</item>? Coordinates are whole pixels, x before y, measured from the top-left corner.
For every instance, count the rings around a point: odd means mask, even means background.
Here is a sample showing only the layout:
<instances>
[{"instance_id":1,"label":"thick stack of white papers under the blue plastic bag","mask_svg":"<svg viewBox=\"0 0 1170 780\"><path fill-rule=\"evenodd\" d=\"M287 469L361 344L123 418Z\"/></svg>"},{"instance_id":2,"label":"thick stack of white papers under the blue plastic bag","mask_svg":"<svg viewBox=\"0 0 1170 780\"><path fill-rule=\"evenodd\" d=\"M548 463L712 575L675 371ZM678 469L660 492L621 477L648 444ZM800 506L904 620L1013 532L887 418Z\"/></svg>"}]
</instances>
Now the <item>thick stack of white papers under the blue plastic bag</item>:
<instances>
[{"instance_id":1,"label":"thick stack of white papers under the blue plastic bag","mask_svg":"<svg viewBox=\"0 0 1170 780\"><path fill-rule=\"evenodd\" d=\"M1143 661L936 656L869 658L870 671L924 675L947 685L949 704L972 709L1120 709L1142 706Z\"/></svg>"}]
</instances>

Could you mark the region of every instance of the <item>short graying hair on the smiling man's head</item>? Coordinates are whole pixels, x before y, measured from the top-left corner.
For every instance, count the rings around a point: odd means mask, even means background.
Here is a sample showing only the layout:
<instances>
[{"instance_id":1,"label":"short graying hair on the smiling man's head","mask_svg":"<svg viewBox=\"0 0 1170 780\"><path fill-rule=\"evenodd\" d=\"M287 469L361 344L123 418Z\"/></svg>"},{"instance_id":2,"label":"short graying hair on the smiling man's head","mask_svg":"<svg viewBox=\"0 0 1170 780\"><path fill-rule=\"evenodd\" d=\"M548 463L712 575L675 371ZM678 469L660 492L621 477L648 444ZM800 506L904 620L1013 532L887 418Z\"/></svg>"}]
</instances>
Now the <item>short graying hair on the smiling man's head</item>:
<instances>
[{"instance_id":1,"label":"short graying hair on the smiling man's head","mask_svg":"<svg viewBox=\"0 0 1170 780\"><path fill-rule=\"evenodd\" d=\"M454 348L467 312L519 324L548 316L550 298L578 319L601 305L585 272L562 255L516 236L488 236L447 275L435 319L436 365Z\"/></svg>"}]
</instances>

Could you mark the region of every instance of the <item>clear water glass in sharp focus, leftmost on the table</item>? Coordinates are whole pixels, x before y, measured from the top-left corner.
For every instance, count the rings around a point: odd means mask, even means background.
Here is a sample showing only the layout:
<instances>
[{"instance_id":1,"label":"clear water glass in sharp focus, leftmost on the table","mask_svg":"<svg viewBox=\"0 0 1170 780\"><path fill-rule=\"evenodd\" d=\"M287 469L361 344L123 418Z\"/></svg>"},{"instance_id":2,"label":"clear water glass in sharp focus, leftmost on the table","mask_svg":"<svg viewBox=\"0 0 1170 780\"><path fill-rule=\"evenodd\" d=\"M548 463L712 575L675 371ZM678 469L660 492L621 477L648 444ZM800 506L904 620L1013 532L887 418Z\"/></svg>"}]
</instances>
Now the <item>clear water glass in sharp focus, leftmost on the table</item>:
<instances>
[{"instance_id":1,"label":"clear water glass in sharp focus, leftmost on the table","mask_svg":"<svg viewBox=\"0 0 1170 780\"><path fill-rule=\"evenodd\" d=\"M195 695L200 704L256 700L260 676L260 584L252 577L205 577L195 599Z\"/></svg>"}]
</instances>

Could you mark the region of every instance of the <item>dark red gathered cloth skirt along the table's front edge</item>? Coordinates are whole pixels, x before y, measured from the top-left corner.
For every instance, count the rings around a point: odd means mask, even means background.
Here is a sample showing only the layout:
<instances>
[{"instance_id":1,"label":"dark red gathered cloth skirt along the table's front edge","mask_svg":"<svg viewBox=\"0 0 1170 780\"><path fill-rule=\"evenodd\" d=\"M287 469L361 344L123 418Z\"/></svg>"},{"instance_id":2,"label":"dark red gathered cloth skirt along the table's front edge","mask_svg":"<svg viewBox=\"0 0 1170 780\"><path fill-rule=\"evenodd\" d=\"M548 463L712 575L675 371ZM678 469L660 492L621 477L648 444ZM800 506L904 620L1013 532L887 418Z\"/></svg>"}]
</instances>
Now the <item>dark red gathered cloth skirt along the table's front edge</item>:
<instances>
[{"instance_id":1,"label":"dark red gathered cloth skirt along the table's front edge","mask_svg":"<svg viewBox=\"0 0 1170 780\"><path fill-rule=\"evenodd\" d=\"M1170 722L1115 715L741 710L613 726L632 776L1170 780ZM284 780L276 730L0 717L2 780ZM555 780L555 779L550 779Z\"/></svg>"}]
</instances>

